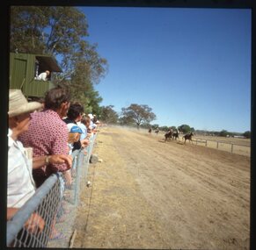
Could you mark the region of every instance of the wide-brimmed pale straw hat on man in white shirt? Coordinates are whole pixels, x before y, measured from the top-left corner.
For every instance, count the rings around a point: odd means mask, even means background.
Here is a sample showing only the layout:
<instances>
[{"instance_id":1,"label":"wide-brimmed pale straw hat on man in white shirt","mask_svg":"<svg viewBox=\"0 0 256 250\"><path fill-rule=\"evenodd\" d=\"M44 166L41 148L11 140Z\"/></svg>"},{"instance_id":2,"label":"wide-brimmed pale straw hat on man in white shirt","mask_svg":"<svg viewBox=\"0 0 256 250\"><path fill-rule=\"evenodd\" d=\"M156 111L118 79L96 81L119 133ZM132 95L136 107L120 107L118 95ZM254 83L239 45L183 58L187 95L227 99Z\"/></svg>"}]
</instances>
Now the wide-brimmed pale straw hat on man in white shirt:
<instances>
[{"instance_id":1,"label":"wide-brimmed pale straw hat on man in white shirt","mask_svg":"<svg viewBox=\"0 0 256 250\"><path fill-rule=\"evenodd\" d=\"M20 89L9 90L9 118L18 115L33 112L42 108L42 104L37 102L28 103L26 97L22 94Z\"/></svg>"}]
</instances>

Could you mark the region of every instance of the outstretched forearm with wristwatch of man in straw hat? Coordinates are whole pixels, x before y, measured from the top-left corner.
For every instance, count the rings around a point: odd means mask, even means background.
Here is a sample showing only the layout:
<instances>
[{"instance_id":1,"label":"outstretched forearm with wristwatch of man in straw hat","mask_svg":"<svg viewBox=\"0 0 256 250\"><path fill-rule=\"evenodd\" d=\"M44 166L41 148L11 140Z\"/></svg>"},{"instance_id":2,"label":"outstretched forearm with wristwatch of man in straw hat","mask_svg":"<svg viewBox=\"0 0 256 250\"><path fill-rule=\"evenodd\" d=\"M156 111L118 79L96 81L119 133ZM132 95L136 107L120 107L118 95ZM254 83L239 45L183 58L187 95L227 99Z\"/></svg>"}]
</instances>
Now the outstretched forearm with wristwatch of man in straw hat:
<instances>
[{"instance_id":1,"label":"outstretched forearm with wristwatch of man in straw hat","mask_svg":"<svg viewBox=\"0 0 256 250\"><path fill-rule=\"evenodd\" d=\"M41 168L48 164L66 163L69 168L72 166L72 156L66 154L43 155L33 157L33 169Z\"/></svg>"}]
</instances>

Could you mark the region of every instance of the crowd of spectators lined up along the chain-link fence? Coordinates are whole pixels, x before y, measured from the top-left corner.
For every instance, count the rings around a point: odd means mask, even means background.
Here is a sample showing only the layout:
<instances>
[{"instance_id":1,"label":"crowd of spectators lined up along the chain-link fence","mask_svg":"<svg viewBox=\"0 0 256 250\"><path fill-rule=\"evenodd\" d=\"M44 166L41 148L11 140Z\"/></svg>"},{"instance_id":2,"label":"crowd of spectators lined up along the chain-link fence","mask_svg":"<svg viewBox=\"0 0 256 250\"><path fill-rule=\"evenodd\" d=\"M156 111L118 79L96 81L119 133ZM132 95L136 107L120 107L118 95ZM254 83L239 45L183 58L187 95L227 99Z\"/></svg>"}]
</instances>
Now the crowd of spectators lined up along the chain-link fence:
<instances>
[{"instance_id":1,"label":"crowd of spectators lined up along the chain-link fence","mask_svg":"<svg viewBox=\"0 0 256 250\"><path fill-rule=\"evenodd\" d=\"M82 104L71 103L69 89L48 90L43 104L28 103L19 89L9 92L7 220L26 204L50 175L61 172L61 190L72 183L72 152L90 143L97 125L84 114ZM62 196L62 192L60 194ZM62 198L62 197L61 197ZM60 210L63 211L62 205ZM61 213L62 214L62 213ZM51 225L49 239L65 237ZM42 232L45 221L33 213L26 221L28 232Z\"/></svg>"}]
</instances>

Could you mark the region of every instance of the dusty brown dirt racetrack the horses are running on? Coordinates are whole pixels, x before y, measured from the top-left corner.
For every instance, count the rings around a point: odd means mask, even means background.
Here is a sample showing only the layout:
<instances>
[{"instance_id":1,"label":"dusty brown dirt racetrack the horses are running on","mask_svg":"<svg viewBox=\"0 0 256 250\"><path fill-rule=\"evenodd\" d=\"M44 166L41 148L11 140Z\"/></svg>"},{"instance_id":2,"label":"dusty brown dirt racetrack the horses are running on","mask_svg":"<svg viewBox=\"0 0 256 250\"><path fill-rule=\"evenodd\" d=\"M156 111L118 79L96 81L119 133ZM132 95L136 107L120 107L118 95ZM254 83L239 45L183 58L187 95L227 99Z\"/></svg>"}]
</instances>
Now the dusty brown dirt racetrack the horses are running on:
<instances>
[{"instance_id":1,"label":"dusty brown dirt racetrack the horses are running on","mask_svg":"<svg viewBox=\"0 0 256 250\"><path fill-rule=\"evenodd\" d=\"M103 128L74 247L249 249L250 158Z\"/></svg>"}]
</instances>

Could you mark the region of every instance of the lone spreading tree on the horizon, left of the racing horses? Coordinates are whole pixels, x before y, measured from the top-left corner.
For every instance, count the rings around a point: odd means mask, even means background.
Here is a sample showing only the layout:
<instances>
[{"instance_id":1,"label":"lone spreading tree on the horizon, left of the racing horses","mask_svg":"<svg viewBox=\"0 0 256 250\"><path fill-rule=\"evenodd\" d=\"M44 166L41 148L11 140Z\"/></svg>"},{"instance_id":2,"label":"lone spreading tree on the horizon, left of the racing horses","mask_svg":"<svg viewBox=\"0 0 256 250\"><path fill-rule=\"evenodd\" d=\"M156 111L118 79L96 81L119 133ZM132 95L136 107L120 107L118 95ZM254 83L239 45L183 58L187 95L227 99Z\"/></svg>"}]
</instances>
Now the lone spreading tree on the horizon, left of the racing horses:
<instances>
[{"instance_id":1,"label":"lone spreading tree on the horizon, left of the racing horses","mask_svg":"<svg viewBox=\"0 0 256 250\"><path fill-rule=\"evenodd\" d=\"M128 108L121 109L121 118L139 127L143 123L150 123L157 117L148 105L130 104Z\"/></svg>"}]
</instances>

